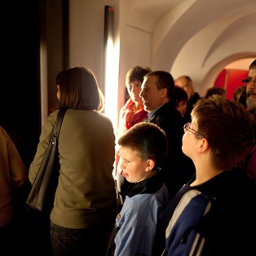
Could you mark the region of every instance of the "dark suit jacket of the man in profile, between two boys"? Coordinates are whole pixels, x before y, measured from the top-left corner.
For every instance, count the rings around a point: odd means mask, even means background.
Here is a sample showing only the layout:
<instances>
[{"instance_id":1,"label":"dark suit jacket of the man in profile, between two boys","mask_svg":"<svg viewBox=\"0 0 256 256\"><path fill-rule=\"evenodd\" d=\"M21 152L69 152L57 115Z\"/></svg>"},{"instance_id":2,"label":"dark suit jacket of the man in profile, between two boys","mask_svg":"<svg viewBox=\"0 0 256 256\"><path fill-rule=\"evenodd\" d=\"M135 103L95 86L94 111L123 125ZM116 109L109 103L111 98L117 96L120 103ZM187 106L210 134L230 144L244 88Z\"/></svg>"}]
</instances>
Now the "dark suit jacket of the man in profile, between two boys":
<instances>
[{"instance_id":1,"label":"dark suit jacket of the man in profile, between two boys","mask_svg":"<svg viewBox=\"0 0 256 256\"><path fill-rule=\"evenodd\" d=\"M157 109L151 118L144 121L160 126L166 132L169 143L168 155L162 166L163 182L173 197L183 184L188 183L195 174L195 166L190 158L182 152L183 118L171 100Z\"/></svg>"}]
</instances>

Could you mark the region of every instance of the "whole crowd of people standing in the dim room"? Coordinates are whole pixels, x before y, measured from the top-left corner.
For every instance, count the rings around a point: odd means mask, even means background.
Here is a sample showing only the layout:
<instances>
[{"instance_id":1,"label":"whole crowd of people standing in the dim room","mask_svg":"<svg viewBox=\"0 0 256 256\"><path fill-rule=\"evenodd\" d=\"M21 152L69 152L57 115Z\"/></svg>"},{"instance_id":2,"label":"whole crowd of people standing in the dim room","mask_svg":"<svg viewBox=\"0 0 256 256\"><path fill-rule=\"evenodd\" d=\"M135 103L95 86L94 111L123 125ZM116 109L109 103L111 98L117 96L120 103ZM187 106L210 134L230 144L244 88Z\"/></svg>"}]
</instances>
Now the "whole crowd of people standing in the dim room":
<instances>
[{"instance_id":1,"label":"whole crowd of people standing in the dim room","mask_svg":"<svg viewBox=\"0 0 256 256\"><path fill-rule=\"evenodd\" d=\"M191 77L135 66L114 134L90 68L58 73L29 167L0 126L2 255L255 255L256 60L244 82L233 100L219 88L201 97ZM17 195L33 185L60 108L54 205L43 218L28 210L20 245Z\"/></svg>"}]
</instances>

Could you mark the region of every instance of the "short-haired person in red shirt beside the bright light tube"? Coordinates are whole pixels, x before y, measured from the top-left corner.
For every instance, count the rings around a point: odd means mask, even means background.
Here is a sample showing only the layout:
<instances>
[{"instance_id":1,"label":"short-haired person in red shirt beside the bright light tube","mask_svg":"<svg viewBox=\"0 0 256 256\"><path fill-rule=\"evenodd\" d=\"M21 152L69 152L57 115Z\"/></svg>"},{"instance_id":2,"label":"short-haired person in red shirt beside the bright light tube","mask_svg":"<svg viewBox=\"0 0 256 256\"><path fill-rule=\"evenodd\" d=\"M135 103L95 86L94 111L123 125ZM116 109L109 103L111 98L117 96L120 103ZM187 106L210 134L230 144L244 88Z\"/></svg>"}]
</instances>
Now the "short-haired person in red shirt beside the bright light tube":
<instances>
[{"instance_id":1,"label":"short-haired person in red shirt beside the bright light tube","mask_svg":"<svg viewBox=\"0 0 256 256\"><path fill-rule=\"evenodd\" d=\"M135 66L130 68L126 73L126 89L129 95L126 104L120 109L118 126L117 126L117 138L116 141L123 135L126 130L129 130L130 127L134 126L136 123L143 121L145 118L148 118L148 112L143 108L143 102L139 96L141 90L141 84L143 82L143 77L145 74L151 71L150 68L142 68L140 66ZM120 196L120 192L123 188L129 185L129 183L121 176L120 171L118 170L118 161L119 155L116 155L115 162L115 175L117 179L117 199L118 204L123 204L124 196Z\"/></svg>"}]
</instances>

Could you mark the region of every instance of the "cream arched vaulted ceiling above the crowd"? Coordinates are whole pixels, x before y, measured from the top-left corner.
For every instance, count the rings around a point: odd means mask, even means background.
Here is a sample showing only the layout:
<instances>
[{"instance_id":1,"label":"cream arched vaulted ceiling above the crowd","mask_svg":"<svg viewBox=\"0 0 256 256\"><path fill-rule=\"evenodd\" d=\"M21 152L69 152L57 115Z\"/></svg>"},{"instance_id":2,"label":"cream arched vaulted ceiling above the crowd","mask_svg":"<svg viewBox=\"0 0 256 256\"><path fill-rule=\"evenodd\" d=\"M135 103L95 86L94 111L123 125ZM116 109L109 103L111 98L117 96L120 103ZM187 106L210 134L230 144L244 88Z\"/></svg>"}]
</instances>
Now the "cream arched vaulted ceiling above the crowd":
<instances>
[{"instance_id":1,"label":"cream arched vaulted ceiling above the crowd","mask_svg":"<svg viewBox=\"0 0 256 256\"><path fill-rule=\"evenodd\" d=\"M255 0L134 0L126 22L152 33L152 69L188 74L201 90L227 64L256 57Z\"/></svg>"}]
</instances>

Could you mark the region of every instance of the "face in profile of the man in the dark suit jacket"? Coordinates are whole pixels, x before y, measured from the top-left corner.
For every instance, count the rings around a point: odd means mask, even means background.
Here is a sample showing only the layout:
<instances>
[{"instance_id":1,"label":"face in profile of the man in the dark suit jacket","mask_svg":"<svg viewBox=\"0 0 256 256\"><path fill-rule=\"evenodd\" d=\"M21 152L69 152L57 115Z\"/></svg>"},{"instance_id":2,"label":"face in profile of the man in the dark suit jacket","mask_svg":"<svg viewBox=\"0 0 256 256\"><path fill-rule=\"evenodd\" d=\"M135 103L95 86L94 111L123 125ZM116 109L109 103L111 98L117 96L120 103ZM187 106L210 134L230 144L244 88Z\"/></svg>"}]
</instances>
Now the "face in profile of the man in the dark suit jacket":
<instances>
[{"instance_id":1,"label":"face in profile of the man in the dark suit jacket","mask_svg":"<svg viewBox=\"0 0 256 256\"><path fill-rule=\"evenodd\" d=\"M139 95L142 98L145 111L151 113L162 105L163 90L166 90L166 88L157 90L156 76L144 78Z\"/></svg>"}]
</instances>

